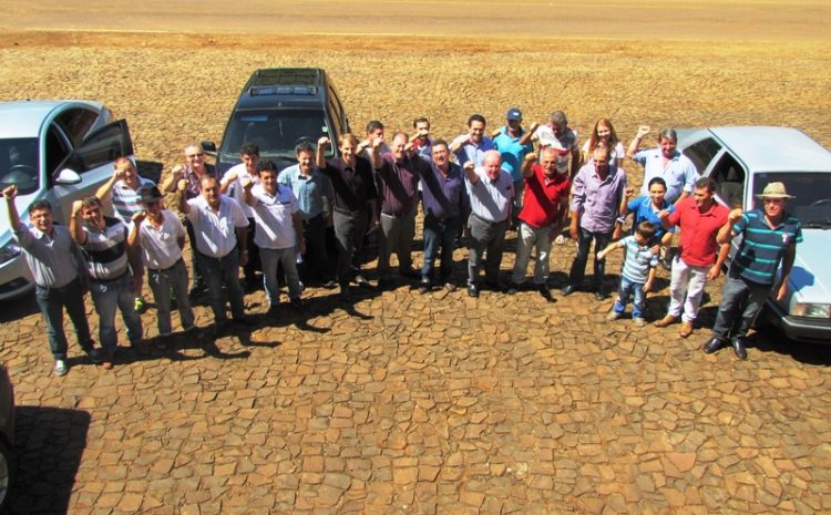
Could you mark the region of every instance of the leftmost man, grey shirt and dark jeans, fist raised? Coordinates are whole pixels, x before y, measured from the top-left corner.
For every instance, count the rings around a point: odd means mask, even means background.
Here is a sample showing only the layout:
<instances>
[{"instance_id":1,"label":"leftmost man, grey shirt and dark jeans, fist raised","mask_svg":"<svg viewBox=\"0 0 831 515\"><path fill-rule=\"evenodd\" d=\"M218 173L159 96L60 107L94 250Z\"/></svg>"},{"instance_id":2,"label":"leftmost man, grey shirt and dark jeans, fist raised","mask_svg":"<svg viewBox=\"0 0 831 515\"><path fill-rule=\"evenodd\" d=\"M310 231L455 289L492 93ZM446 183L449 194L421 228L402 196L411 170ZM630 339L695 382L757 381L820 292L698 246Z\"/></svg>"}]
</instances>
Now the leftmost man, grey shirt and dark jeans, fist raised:
<instances>
[{"instance_id":1,"label":"leftmost man, grey shirt and dark jeans, fist raised","mask_svg":"<svg viewBox=\"0 0 831 515\"><path fill-rule=\"evenodd\" d=\"M64 308L75 328L78 344L93 363L100 363L101 354L90 336L90 325L84 310L83 282L86 264L81 249L78 248L78 244L72 239L66 227L54 225L52 206L47 200L34 200L29 206L29 222L32 226L23 225L14 205L17 196L17 186L11 185L3 189L9 225L32 272L34 298L47 321L49 349L54 359L54 373L65 375L69 371L66 361L69 346L63 332Z\"/></svg>"}]
</instances>

